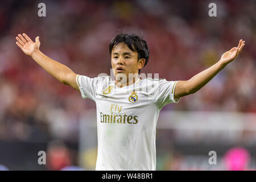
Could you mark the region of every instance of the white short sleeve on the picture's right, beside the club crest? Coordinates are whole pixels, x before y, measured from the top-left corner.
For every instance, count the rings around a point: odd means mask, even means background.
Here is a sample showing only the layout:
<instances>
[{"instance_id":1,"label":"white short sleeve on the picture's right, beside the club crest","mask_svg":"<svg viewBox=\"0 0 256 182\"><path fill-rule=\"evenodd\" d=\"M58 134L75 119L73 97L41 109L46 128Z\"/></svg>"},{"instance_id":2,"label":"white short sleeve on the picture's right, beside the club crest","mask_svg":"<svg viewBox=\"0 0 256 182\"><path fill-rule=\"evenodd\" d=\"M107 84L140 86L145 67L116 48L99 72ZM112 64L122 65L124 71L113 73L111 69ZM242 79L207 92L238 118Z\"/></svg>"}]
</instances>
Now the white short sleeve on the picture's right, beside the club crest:
<instances>
[{"instance_id":1,"label":"white short sleeve on the picture's right, beside the club crest","mask_svg":"<svg viewBox=\"0 0 256 182\"><path fill-rule=\"evenodd\" d=\"M170 103L178 103L179 98L174 98L175 86L178 81L166 81L166 79L159 79L154 81L154 98L159 107L163 107Z\"/></svg>"}]
</instances>

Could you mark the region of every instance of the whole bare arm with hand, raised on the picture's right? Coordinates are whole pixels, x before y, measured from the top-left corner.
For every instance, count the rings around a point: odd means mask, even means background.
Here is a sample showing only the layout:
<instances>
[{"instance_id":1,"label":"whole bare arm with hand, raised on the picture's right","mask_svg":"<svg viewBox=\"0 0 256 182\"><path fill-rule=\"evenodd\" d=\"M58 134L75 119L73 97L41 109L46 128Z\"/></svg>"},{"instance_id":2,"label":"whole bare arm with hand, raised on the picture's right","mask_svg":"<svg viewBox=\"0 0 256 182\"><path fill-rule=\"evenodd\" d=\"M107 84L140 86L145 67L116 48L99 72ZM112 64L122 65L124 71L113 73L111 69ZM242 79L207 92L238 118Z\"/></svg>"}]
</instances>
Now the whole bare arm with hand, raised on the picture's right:
<instances>
[{"instance_id":1,"label":"whole bare arm with hand, raised on the picture's right","mask_svg":"<svg viewBox=\"0 0 256 182\"><path fill-rule=\"evenodd\" d=\"M217 75L227 64L236 59L236 57L242 51L245 46L245 41L240 40L238 47L233 47L229 51L225 52L221 59L212 67L205 69L198 73L187 81L179 81L175 87L175 98L184 97L189 94L195 93L200 90L205 84L207 84L212 78Z\"/></svg>"}]
</instances>

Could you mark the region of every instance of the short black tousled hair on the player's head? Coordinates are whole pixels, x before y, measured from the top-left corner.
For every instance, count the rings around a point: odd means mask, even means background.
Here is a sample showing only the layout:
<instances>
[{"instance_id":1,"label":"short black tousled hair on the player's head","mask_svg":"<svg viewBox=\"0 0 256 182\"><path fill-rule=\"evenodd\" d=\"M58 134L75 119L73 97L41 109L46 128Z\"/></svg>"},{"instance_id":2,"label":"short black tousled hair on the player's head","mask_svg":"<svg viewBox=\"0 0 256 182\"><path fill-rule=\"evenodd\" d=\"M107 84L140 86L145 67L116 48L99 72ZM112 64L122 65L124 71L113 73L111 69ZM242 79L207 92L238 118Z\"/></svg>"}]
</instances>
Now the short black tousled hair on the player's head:
<instances>
[{"instance_id":1,"label":"short black tousled hair on the player's head","mask_svg":"<svg viewBox=\"0 0 256 182\"><path fill-rule=\"evenodd\" d=\"M138 53L138 60L145 59L145 64L147 64L149 58L149 50L147 46L147 42L143 40L142 34L138 36L137 34L118 34L114 36L114 38L109 43L109 53L111 55L112 49L117 46L119 43L125 43L131 51L136 51ZM141 72L141 69L139 69Z\"/></svg>"}]
</instances>

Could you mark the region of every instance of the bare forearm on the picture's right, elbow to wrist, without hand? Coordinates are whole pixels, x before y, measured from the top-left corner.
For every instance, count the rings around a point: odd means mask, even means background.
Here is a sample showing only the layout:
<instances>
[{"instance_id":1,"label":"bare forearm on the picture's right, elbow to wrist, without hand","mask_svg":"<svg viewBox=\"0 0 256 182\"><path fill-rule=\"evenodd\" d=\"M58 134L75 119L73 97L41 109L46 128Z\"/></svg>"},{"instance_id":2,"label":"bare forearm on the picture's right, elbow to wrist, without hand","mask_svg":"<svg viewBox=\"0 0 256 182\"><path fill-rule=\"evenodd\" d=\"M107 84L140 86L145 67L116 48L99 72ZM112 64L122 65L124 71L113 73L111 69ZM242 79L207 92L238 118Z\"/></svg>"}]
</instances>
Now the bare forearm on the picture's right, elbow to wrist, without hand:
<instances>
[{"instance_id":1,"label":"bare forearm on the picture's right, elbow to wrist, without hand","mask_svg":"<svg viewBox=\"0 0 256 182\"><path fill-rule=\"evenodd\" d=\"M225 67L221 61L218 61L212 67L205 69L204 71L193 76L187 81L188 94L192 94L200 90L205 84L207 84L218 72Z\"/></svg>"}]
</instances>

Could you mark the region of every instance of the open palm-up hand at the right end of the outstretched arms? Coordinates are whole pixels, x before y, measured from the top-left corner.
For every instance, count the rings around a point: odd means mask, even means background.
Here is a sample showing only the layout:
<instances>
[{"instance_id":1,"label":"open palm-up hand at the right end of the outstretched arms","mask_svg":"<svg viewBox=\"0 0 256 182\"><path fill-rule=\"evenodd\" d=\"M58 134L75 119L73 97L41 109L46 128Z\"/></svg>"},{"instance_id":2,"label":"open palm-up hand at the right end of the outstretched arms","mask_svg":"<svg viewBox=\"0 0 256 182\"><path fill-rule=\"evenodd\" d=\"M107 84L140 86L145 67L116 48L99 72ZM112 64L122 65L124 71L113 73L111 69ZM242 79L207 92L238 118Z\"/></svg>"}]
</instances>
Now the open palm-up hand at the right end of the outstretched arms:
<instances>
[{"instance_id":1,"label":"open palm-up hand at the right end of the outstretched arms","mask_svg":"<svg viewBox=\"0 0 256 182\"><path fill-rule=\"evenodd\" d=\"M225 52L221 56L221 59L220 59L221 63L226 65L226 64L230 63L231 61L233 61L234 59L236 59L236 57L240 54L240 52L242 51L242 48L244 46L245 46L245 41L243 41L241 39L237 47L233 47L232 49Z\"/></svg>"}]
</instances>

